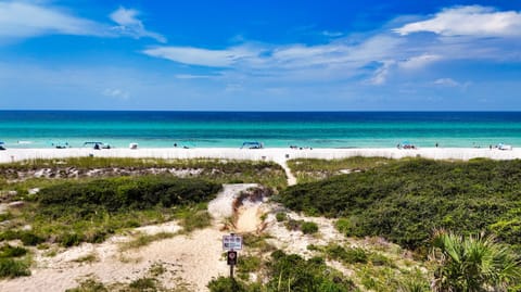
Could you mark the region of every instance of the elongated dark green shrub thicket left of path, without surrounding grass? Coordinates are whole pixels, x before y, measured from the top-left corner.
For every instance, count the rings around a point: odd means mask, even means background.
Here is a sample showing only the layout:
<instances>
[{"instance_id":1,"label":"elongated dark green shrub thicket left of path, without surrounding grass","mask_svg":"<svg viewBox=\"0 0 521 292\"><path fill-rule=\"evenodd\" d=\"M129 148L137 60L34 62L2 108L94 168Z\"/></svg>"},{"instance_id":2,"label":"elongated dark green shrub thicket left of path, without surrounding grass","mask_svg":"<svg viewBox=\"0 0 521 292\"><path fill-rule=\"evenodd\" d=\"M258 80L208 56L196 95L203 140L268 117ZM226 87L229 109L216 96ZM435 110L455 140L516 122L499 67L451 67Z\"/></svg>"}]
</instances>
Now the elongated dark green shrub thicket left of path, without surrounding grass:
<instances>
[{"instance_id":1,"label":"elongated dark green shrub thicket left of path, without surrounding grass","mask_svg":"<svg viewBox=\"0 0 521 292\"><path fill-rule=\"evenodd\" d=\"M220 188L201 179L119 177L51 186L40 190L38 202L55 216L60 216L56 212L79 211L80 217L87 217L100 208L113 213L208 201Z\"/></svg>"}]
</instances>

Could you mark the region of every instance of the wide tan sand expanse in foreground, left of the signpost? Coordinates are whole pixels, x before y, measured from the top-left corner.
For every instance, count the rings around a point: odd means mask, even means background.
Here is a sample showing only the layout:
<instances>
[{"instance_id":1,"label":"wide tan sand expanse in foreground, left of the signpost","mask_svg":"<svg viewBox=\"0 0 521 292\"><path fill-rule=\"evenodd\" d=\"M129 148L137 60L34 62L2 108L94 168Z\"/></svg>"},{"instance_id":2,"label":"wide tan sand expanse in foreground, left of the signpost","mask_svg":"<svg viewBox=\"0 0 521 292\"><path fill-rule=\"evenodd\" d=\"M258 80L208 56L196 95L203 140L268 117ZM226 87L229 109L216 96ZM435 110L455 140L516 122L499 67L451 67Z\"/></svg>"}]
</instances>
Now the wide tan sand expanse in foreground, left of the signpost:
<instances>
[{"instance_id":1,"label":"wide tan sand expanse in foreground, left of the signpost","mask_svg":"<svg viewBox=\"0 0 521 292\"><path fill-rule=\"evenodd\" d=\"M30 277L0 281L0 291L64 291L77 285L76 279L92 275L104 283L130 282L134 279L147 276L154 263L162 263L166 268L167 279L165 287L176 287L178 280L189 284L193 291L206 291L206 284L213 277L226 275L228 267L220 258L223 232L215 228L198 230L190 236L177 236L171 239L153 242L135 251L119 253L117 245L109 249L109 254L100 262L81 264L69 261L56 262L52 258L47 267L31 270ZM86 244L88 245L88 244ZM73 249L68 254L97 253L106 251L106 246ZM87 253L88 254L88 253Z\"/></svg>"}]
</instances>

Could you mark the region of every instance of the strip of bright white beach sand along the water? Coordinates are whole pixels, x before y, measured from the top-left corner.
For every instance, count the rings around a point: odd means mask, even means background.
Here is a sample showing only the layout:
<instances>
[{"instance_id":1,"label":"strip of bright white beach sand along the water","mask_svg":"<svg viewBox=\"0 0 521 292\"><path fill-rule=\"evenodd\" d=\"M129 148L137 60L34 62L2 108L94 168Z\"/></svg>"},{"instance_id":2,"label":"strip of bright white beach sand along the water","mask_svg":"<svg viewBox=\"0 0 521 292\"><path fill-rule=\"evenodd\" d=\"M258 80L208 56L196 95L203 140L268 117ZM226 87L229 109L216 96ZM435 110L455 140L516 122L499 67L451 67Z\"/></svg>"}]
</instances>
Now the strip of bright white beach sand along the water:
<instances>
[{"instance_id":1,"label":"strip of bright white beach sand along the water","mask_svg":"<svg viewBox=\"0 0 521 292\"><path fill-rule=\"evenodd\" d=\"M238 149L238 148L142 148L142 149L8 149L0 151L0 163L20 162L37 158L66 158L66 157L134 157L134 158L224 158L245 161L272 161L282 163L292 158L346 158L353 156L366 157L424 157L432 160L461 160L491 158L516 160L521 158L521 149L498 150L488 148L353 148L353 149Z\"/></svg>"}]
</instances>

